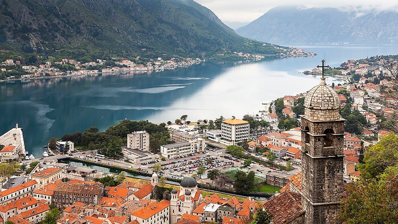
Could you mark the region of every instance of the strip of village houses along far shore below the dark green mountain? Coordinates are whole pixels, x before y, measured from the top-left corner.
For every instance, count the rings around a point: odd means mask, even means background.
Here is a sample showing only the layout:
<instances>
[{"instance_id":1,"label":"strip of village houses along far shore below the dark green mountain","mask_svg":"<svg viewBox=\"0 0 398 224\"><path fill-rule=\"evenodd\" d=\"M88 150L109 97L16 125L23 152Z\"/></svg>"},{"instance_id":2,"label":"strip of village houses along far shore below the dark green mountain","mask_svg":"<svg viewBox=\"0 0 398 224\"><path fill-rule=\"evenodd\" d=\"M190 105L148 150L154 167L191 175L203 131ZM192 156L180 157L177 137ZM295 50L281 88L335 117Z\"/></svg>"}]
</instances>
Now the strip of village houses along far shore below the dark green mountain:
<instances>
[{"instance_id":1,"label":"strip of village houses along far shore below the dark green mountain","mask_svg":"<svg viewBox=\"0 0 398 224\"><path fill-rule=\"evenodd\" d=\"M289 49L284 49L281 47L274 47L284 53L280 53L277 56L313 56L315 53L306 52L300 48L289 47ZM1 50L1 52L7 52L6 50ZM8 51L9 52L9 51ZM238 56L238 58L242 59L254 59L261 60L264 58L262 55L251 55L249 53L242 52L234 52L234 55ZM169 60L164 60L161 57L156 59L150 59L146 64L136 64L135 62L128 60L126 58L111 58L115 62L115 66L105 66L106 60L97 59L96 61L91 62L80 62L74 60L72 58L67 59L63 58L61 61L52 61L47 60L43 64L37 65L28 65L21 64L20 60L15 59L7 59L2 62L1 72L10 71L10 67L14 69L15 66L21 67L21 69L25 72L25 74L21 74L20 76L15 75L5 75L4 78L0 81L10 81L10 80L26 80L26 79L36 79L36 78L54 78L54 77L65 77L65 76L81 76L81 75L94 75L94 74L106 74L112 72L134 72L134 73L142 73L142 72L151 72L151 71L159 71L164 69L174 69L177 67L190 66L192 64L197 64L204 59L201 58L184 58L183 60L179 60L179 58L170 58ZM137 56L136 59L140 59ZM51 66L52 64L70 64L74 66L74 70L61 71L59 68L55 68ZM90 69L90 67L96 66L101 67L100 69ZM1 73L0 73L1 75Z\"/></svg>"}]
</instances>

